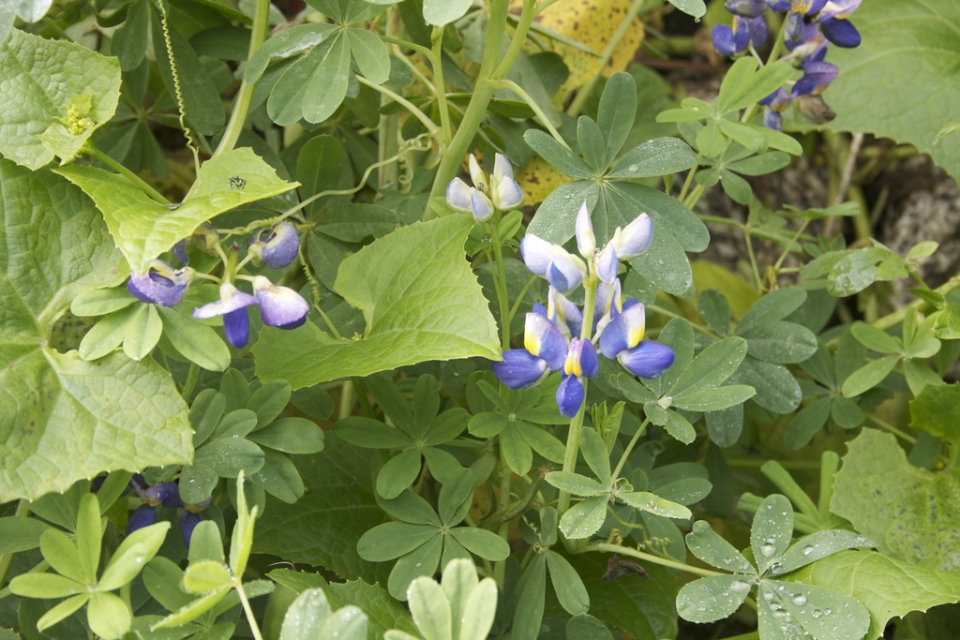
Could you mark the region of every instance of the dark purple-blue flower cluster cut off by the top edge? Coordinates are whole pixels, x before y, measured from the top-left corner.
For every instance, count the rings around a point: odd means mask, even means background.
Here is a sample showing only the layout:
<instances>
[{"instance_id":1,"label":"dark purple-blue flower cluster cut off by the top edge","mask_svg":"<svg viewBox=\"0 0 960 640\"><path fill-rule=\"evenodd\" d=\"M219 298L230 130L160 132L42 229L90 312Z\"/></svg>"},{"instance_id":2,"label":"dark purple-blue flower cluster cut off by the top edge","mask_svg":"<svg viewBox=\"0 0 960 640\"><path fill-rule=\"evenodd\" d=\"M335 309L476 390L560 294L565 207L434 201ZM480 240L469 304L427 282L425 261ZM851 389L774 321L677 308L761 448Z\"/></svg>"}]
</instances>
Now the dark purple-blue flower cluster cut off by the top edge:
<instances>
[{"instance_id":1,"label":"dark purple-blue flower cluster cut off by the top edge","mask_svg":"<svg viewBox=\"0 0 960 640\"><path fill-rule=\"evenodd\" d=\"M784 13L783 43L790 52L784 59L799 59L803 77L788 92L777 90L760 101L765 107L764 125L780 131L782 113L794 102L805 120L822 124L834 117L820 94L837 77L837 67L824 61L827 43L838 47L856 47L860 32L850 23L850 15L863 0L726 0L724 7L733 14L733 26L713 28L717 51L732 56L767 42L769 32L764 14L767 9Z\"/></svg>"}]
</instances>

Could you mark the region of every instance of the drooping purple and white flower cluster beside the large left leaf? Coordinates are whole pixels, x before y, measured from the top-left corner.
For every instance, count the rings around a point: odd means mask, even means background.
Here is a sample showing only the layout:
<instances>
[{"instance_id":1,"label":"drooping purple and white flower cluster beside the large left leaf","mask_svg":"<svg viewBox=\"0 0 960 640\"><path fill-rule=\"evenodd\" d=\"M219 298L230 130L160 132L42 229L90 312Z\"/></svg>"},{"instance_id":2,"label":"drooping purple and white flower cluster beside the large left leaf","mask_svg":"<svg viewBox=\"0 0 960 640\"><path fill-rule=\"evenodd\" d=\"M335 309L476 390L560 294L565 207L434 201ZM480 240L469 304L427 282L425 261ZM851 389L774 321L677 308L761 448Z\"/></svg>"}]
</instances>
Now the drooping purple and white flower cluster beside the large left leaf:
<instances>
[{"instance_id":1,"label":"drooping purple and white flower cluster beside the large left leaf","mask_svg":"<svg viewBox=\"0 0 960 640\"><path fill-rule=\"evenodd\" d=\"M210 243L210 238L207 237L210 232L216 234L213 229L208 228L201 240ZM174 253L185 264L184 246L178 243L178 247L179 249L175 247ZM281 222L254 235L247 257L240 266L252 260L273 269L282 269L296 259L299 249L300 239L296 227L289 222ZM234 270L238 269L239 267ZM194 277L196 273L190 267L174 269L163 260L154 260L149 273L130 273L127 288L138 300L172 307L183 299L187 286ZM269 327L295 329L306 322L310 305L293 289L277 286L264 276L240 276L239 279L252 283L253 295L238 290L231 281L232 274L228 274L220 284L220 299L193 311L193 317L198 319L223 316L224 333L227 341L234 347L244 347L250 339L247 307L259 305L260 317Z\"/></svg>"}]
</instances>

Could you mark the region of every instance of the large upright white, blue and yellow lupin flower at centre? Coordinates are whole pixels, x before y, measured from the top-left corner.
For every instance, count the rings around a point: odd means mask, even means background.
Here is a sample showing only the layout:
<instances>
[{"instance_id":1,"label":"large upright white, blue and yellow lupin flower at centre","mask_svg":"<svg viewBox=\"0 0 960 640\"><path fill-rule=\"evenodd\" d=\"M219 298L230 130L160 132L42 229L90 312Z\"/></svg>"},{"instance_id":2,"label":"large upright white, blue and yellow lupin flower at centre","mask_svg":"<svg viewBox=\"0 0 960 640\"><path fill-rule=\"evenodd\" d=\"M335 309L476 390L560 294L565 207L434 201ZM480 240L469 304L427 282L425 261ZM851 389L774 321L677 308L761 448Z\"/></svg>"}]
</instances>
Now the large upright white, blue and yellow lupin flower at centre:
<instances>
[{"instance_id":1,"label":"large upright white, blue and yellow lupin flower at centre","mask_svg":"<svg viewBox=\"0 0 960 640\"><path fill-rule=\"evenodd\" d=\"M617 360L631 373L656 378L673 364L673 350L644 340L643 304L622 299L617 277L621 260L643 254L653 240L653 222L642 213L613 238L597 248L593 223L586 203L576 223L577 249L586 260L563 247L527 234L520 243L524 263L550 283L548 306L534 305L524 324L523 349L510 349L503 362L493 363L493 372L511 389L522 389L543 380L551 371L560 371L557 405L563 415L573 417L583 404L583 379L593 378L600 367L597 350ZM564 294L581 283L586 299L593 299L591 313ZM585 317L586 316L586 317ZM586 325L585 323L589 323Z\"/></svg>"}]
</instances>

